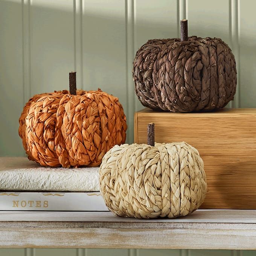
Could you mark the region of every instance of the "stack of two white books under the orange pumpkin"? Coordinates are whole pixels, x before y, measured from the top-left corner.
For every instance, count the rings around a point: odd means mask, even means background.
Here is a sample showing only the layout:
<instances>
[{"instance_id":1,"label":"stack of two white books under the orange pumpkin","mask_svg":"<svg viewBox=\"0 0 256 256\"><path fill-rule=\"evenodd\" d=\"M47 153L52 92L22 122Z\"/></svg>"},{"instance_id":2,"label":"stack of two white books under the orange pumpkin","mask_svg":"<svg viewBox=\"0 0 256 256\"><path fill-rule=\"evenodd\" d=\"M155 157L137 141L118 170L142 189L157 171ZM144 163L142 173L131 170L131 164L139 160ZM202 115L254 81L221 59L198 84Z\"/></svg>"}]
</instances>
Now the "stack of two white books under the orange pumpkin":
<instances>
[{"instance_id":1,"label":"stack of two white books under the orange pumpkin","mask_svg":"<svg viewBox=\"0 0 256 256\"><path fill-rule=\"evenodd\" d=\"M26 157L0 157L0 210L108 211L99 167L47 168Z\"/></svg>"}]
</instances>

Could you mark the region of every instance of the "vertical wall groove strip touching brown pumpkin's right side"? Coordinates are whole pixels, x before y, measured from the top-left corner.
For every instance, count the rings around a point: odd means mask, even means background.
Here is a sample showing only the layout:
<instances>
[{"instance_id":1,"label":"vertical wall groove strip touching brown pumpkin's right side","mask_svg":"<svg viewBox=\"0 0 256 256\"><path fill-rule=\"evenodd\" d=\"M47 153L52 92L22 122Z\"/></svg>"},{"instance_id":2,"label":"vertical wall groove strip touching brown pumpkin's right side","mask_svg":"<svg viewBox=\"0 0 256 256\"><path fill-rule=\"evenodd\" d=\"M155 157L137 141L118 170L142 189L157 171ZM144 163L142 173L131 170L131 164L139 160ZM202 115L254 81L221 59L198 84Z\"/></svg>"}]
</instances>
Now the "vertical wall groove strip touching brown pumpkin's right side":
<instances>
[{"instance_id":1,"label":"vertical wall groove strip touching brown pumpkin's right side","mask_svg":"<svg viewBox=\"0 0 256 256\"><path fill-rule=\"evenodd\" d=\"M237 69L237 85L236 85L236 94L234 101L232 102L232 107L240 107L240 53L239 53L239 8L238 0L231 0L231 44L232 52L235 55L236 59L236 69Z\"/></svg>"}]
</instances>

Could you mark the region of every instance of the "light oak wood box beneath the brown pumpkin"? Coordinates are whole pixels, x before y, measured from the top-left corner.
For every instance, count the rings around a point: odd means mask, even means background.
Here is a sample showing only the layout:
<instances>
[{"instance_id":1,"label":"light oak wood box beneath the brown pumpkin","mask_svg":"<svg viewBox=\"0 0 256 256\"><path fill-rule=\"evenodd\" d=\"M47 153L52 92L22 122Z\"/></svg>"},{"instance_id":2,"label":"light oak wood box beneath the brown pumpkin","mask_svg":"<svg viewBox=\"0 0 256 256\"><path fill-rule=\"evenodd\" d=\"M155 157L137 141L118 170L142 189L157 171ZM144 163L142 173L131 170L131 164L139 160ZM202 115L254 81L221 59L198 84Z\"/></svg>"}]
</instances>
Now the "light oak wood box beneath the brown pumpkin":
<instances>
[{"instance_id":1,"label":"light oak wood box beneath the brown pumpkin","mask_svg":"<svg viewBox=\"0 0 256 256\"><path fill-rule=\"evenodd\" d=\"M211 113L169 113L144 109L134 114L134 142L185 141L204 161L208 191L203 209L256 209L256 108Z\"/></svg>"}]
</instances>

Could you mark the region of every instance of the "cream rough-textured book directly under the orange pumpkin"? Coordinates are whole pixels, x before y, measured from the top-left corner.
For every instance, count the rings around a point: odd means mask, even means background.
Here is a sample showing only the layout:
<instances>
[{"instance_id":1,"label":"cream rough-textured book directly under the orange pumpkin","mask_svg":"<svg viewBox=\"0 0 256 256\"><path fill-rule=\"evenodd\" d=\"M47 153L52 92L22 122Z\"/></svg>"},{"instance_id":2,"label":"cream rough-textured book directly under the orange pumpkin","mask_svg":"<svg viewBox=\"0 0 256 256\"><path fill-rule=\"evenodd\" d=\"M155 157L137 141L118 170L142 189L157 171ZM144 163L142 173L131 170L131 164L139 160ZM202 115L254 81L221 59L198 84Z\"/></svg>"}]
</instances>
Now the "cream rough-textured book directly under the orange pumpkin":
<instances>
[{"instance_id":1,"label":"cream rough-textured book directly under the orange pumpkin","mask_svg":"<svg viewBox=\"0 0 256 256\"><path fill-rule=\"evenodd\" d=\"M26 157L0 157L0 191L99 191L99 167L50 168Z\"/></svg>"}]
</instances>

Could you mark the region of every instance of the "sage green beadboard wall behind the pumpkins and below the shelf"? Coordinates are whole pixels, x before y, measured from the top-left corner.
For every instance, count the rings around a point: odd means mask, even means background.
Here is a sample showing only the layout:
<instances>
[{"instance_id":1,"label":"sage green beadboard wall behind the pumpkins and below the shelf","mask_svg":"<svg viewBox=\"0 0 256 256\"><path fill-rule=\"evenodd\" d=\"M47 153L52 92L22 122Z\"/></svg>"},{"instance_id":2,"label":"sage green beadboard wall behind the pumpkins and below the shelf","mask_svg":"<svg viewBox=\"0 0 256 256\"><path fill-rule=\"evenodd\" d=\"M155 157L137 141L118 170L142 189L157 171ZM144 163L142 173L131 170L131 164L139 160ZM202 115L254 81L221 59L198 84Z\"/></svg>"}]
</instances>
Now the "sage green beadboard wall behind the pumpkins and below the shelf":
<instances>
[{"instance_id":1,"label":"sage green beadboard wall behind the pumpkins and below the shelf","mask_svg":"<svg viewBox=\"0 0 256 256\"><path fill-rule=\"evenodd\" d=\"M256 107L254 0L0 0L0 156L21 156L18 118L36 93L77 85L119 97L133 141L133 113L142 108L131 75L137 49L152 38L220 37L236 57L238 86L229 107ZM251 256L256 251L0 249L0 256Z\"/></svg>"}]
</instances>

